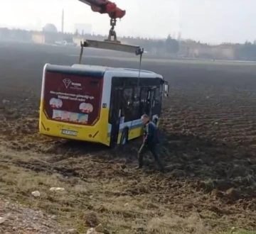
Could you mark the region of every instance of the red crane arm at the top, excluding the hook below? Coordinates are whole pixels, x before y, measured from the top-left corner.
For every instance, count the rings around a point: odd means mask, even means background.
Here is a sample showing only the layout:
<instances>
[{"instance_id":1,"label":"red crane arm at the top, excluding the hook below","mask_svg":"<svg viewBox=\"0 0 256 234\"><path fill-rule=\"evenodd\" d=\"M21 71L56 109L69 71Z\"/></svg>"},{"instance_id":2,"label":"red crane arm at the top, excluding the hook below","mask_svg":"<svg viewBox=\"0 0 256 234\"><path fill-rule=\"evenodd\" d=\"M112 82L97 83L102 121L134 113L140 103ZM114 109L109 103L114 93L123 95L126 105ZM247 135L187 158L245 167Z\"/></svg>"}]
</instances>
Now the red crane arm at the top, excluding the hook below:
<instances>
[{"instance_id":1,"label":"red crane arm at the top, excluding the hook below","mask_svg":"<svg viewBox=\"0 0 256 234\"><path fill-rule=\"evenodd\" d=\"M119 9L117 4L108 0L79 0L91 7L92 11L98 13L107 13L110 18L122 18L126 11Z\"/></svg>"}]
</instances>

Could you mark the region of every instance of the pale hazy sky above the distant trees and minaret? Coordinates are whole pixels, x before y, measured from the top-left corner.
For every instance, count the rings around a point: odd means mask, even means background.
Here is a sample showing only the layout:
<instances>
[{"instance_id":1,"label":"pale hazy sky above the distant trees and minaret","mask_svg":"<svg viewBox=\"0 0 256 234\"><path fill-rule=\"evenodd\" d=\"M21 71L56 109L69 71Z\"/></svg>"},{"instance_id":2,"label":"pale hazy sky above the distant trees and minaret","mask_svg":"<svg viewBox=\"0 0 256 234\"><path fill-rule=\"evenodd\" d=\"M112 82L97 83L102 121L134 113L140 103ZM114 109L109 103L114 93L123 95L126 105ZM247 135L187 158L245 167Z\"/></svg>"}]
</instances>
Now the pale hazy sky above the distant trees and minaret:
<instances>
[{"instance_id":1,"label":"pale hazy sky above the distant trees and minaret","mask_svg":"<svg viewBox=\"0 0 256 234\"><path fill-rule=\"evenodd\" d=\"M107 34L110 20L78 0L1 0L0 26L41 30L46 23L65 31L74 23L92 24L96 34ZM255 0L113 0L127 11L117 21L117 35L166 38L171 34L202 43L244 43L256 40Z\"/></svg>"}]
</instances>

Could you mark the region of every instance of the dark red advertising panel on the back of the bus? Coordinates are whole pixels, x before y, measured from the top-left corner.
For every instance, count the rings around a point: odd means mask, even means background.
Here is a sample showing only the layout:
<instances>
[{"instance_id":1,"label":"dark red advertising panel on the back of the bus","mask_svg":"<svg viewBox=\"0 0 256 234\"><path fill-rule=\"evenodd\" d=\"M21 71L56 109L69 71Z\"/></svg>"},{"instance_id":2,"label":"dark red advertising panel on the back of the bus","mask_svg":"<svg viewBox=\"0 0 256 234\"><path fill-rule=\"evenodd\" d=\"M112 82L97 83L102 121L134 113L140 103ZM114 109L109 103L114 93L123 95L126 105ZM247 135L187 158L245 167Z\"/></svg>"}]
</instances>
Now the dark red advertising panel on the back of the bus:
<instances>
[{"instance_id":1,"label":"dark red advertising panel on the back of the bus","mask_svg":"<svg viewBox=\"0 0 256 234\"><path fill-rule=\"evenodd\" d=\"M93 126L100 116L102 77L46 72L43 102L48 119Z\"/></svg>"}]
</instances>

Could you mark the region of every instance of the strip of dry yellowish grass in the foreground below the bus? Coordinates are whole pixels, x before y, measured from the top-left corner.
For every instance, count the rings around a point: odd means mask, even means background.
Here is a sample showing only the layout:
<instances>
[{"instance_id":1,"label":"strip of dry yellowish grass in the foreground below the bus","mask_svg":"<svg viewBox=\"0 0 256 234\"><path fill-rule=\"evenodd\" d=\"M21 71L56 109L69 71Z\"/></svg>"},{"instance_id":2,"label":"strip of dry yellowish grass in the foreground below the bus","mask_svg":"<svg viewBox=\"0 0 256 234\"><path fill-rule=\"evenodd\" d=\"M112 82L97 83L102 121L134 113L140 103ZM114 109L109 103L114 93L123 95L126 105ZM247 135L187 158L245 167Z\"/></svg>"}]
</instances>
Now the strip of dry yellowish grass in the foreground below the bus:
<instances>
[{"instance_id":1,"label":"strip of dry yellowish grass in the foreground below the bus","mask_svg":"<svg viewBox=\"0 0 256 234\"><path fill-rule=\"evenodd\" d=\"M27 128L26 123L22 126ZM100 150L90 155L92 149L74 151L34 132L9 135L10 141L2 142L0 195L55 215L65 229L85 233L102 223L109 233L217 234L230 233L233 225L252 226L248 219L254 219L252 211L240 217L239 206L223 206L213 193L196 191L184 179L155 171L135 172L127 158L114 157L117 152ZM210 191L215 188L212 179L204 184ZM49 191L52 186L65 191ZM41 192L39 198L31 195L36 190Z\"/></svg>"}]
</instances>

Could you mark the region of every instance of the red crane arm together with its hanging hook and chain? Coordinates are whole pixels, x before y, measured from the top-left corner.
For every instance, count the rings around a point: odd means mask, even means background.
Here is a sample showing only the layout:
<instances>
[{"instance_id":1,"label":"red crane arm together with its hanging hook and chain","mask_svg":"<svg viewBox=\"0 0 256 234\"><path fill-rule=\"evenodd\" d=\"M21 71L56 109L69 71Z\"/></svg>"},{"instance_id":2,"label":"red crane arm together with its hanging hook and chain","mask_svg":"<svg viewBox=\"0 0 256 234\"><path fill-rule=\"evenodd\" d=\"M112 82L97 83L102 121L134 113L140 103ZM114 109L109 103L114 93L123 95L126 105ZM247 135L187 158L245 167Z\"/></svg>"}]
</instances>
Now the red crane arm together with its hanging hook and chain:
<instances>
[{"instance_id":1,"label":"red crane arm together with its hanging hook and chain","mask_svg":"<svg viewBox=\"0 0 256 234\"><path fill-rule=\"evenodd\" d=\"M91 7L92 11L98 12L98 13L107 13L110 16L110 32L107 40L110 42L120 43L117 40L117 33L114 30L114 27L117 23L117 18L123 18L126 14L126 11L119 9L117 7L117 4L114 4L112 1L108 0L79 0L84 4L87 4ZM114 37L114 40L112 40L112 37Z\"/></svg>"}]
</instances>

